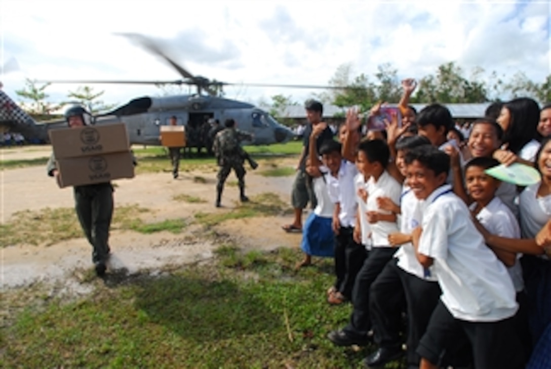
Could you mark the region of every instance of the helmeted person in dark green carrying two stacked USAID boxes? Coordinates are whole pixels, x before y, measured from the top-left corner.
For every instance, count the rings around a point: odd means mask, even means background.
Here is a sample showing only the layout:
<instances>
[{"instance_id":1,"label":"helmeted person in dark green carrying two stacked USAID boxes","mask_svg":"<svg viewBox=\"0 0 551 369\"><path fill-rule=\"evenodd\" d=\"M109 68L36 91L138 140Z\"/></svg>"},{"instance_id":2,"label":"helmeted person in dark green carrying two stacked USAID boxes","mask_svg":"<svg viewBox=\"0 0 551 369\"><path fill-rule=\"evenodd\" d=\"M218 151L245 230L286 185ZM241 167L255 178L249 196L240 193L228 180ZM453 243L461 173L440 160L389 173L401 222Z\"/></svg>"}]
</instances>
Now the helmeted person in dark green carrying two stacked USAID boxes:
<instances>
[{"instance_id":1,"label":"helmeted person in dark green carrying two stacked USAID boxes","mask_svg":"<svg viewBox=\"0 0 551 369\"><path fill-rule=\"evenodd\" d=\"M91 116L84 108L74 106L65 113L69 127L82 127L90 124ZM53 153L47 164L48 176L56 177L59 172ZM88 242L93 248L92 262L96 274L105 274L109 258L109 227L113 215L113 186L111 182L94 185L74 186L75 210Z\"/></svg>"}]
</instances>

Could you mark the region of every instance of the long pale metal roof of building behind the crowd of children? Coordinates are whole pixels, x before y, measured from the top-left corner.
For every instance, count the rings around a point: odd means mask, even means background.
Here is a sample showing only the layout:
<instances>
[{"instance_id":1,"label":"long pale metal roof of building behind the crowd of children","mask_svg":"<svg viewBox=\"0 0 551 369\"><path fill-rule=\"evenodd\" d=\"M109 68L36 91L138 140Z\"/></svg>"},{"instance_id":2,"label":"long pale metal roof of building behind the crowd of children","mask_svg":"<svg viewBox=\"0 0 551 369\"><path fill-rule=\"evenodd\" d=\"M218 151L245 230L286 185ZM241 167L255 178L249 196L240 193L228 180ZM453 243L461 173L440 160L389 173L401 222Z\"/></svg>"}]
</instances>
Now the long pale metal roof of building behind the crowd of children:
<instances>
[{"instance_id":1,"label":"long pale metal roof of building behind the crowd of children","mask_svg":"<svg viewBox=\"0 0 551 369\"><path fill-rule=\"evenodd\" d=\"M421 111L428 104L411 104L417 112ZM453 118L482 118L486 108L490 105L490 102L484 102L482 104L444 104L451 113ZM389 106L397 106L396 104L390 104ZM338 107L336 105L324 105L323 116L332 117L336 113L346 113L345 108ZM283 112L283 117L294 119L306 119L306 111L301 105L287 106Z\"/></svg>"}]
</instances>

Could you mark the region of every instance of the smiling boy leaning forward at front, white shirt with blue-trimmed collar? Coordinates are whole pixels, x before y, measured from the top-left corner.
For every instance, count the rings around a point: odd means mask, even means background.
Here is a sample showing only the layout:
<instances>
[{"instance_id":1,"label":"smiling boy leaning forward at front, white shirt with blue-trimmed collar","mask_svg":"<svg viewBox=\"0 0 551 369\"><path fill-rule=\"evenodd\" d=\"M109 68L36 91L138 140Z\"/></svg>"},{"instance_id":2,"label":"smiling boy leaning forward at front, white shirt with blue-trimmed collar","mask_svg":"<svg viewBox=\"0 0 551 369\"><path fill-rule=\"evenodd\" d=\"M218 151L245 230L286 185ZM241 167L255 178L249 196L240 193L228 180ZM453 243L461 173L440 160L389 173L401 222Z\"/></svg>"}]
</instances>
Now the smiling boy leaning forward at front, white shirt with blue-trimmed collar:
<instances>
[{"instance_id":1,"label":"smiling boy leaning forward at front, white shirt with blue-trimmed collar","mask_svg":"<svg viewBox=\"0 0 551 369\"><path fill-rule=\"evenodd\" d=\"M417 349L420 368L437 368L465 334L476 368L521 368L520 341L512 317L515 288L503 263L485 245L463 200L445 185L449 156L429 146L406 154L407 181L424 200L422 226L412 242L424 268L433 267L442 289Z\"/></svg>"}]
</instances>

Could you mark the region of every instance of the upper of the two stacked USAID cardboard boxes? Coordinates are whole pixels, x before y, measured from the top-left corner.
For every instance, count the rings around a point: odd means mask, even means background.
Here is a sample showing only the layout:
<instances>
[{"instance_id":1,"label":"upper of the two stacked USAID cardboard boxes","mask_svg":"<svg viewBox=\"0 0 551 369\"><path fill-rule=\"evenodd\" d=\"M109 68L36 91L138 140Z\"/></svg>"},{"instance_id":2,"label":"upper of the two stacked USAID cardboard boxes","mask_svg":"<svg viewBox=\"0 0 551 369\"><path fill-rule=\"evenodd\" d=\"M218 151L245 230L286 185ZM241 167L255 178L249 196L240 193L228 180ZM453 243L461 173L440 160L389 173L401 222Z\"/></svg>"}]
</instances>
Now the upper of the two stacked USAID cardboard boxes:
<instances>
[{"instance_id":1,"label":"upper of the two stacked USAID cardboard boxes","mask_svg":"<svg viewBox=\"0 0 551 369\"><path fill-rule=\"evenodd\" d=\"M59 128L48 131L56 159L110 154L129 150L125 123Z\"/></svg>"}]
</instances>

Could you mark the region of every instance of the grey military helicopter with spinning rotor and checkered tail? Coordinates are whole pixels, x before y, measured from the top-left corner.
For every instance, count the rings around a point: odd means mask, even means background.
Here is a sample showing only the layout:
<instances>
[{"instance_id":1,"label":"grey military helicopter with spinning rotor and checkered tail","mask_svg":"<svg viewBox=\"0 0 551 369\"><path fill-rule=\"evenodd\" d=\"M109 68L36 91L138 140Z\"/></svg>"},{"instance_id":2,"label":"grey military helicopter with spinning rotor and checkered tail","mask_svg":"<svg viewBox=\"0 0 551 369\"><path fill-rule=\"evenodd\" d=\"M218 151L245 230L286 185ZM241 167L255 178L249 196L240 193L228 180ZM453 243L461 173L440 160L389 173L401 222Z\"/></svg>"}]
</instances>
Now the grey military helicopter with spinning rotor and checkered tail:
<instances>
[{"instance_id":1,"label":"grey military helicopter with spinning rotor and checkered tail","mask_svg":"<svg viewBox=\"0 0 551 369\"><path fill-rule=\"evenodd\" d=\"M220 97L224 85L233 83L217 82L201 76L194 76L185 68L169 57L156 42L139 34L121 34L132 41L138 42L151 53L161 57L182 76L183 79L173 81L144 81L144 80L50 80L40 82L50 83L80 83L80 84L154 84L154 85L192 85L196 86L197 93L192 95L175 95L153 97L138 97L128 104L115 108L106 113L95 116L95 124L124 122L131 144L160 145L160 126L169 123L171 116L176 116L178 124L186 127L187 147L209 148L206 138L210 129L209 121L218 120L222 124L226 119L233 118L239 129L253 134L253 139L244 144L268 145L285 143L294 137L293 131L276 121L266 111L247 102L225 99ZM294 88L327 88L327 86L307 85L277 85L277 84L240 84L266 87L294 87ZM8 107L8 110L4 108ZM14 114L15 110L19 110ZM10 114L11 113L11 114ZM23 114L21 114L23 113ZM29 116L21 111L9 97L0 91L0 123L12 120L13 131L20 131L26 137L28 134L47 140L46 131L49 128L59 127L64 123L52 123L44 126L34 124ZM15 119L14 118L18 118ZM13 122L14 121L14 122Z\"/></svg>"}]
</instances>

